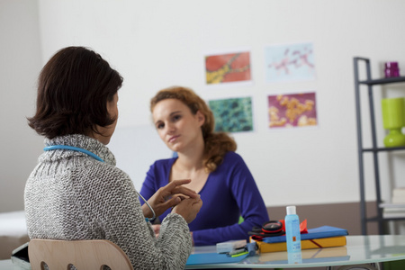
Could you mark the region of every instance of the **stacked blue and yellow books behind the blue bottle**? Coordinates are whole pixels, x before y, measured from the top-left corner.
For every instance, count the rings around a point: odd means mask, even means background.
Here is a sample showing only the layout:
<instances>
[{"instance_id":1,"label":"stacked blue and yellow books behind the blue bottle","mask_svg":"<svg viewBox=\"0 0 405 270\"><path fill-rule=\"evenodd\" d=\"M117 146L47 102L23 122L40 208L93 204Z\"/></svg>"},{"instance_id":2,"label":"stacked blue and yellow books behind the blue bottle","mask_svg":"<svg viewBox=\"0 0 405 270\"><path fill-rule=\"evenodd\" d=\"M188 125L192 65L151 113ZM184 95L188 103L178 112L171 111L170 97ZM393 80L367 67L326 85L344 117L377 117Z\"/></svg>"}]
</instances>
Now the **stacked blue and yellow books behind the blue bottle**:
<instances>
[{"instance_id":1,"label":"stacked blue and yellow books behind the blue bottle","mask_svg":"<svg viewBox=\"0 0 405 270\"><path fill-rule=\"evenodd\" d=\"M343 247L346 246L347 229L331 226L308 229L308 233L301 234L301 248ZM250 241L255 241L250 238ZM263 238L256 241L260 252L286 251L285 235Z\"/></svg>"}]
</instances>

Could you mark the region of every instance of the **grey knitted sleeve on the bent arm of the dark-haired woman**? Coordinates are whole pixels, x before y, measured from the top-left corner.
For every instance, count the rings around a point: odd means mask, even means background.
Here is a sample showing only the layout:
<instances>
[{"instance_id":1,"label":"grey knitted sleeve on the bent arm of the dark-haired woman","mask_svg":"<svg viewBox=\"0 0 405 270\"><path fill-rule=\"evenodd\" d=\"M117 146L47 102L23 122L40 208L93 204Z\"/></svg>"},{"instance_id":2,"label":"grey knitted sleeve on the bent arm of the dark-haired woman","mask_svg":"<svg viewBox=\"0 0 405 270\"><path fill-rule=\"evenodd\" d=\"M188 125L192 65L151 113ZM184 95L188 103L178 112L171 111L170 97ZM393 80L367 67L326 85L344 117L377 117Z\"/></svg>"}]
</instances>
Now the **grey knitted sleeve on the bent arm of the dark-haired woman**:
<instances>
[{"instance_id":1,"label":"grey knitted sleeve on the bent arm of the dark-haired woman","mask_svg":"<svg viewBox=\"0 0 405 270\"><path fill-rule=\"evenodd\" d=\"M96 238L121 247L135 269L184 268L192 241L183 217L169 214L156 238L128 175L105 164L76 167L71 173L78 179L73 187L77 205Z\"/></svg>"}]
</instances>

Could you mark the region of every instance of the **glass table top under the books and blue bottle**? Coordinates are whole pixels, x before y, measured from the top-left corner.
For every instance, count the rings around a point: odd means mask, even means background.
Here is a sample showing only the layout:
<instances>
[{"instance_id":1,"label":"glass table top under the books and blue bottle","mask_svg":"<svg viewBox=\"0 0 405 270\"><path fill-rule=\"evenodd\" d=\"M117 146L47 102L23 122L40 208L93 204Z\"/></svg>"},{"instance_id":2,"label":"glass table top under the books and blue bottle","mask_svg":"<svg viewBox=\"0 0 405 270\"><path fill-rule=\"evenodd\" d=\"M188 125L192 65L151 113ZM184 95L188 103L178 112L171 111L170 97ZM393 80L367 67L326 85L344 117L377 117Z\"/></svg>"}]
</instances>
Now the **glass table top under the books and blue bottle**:
<instances>
[{"instance_id":1,"label":"glass table top under the books and blue bottle","mask_svg":"<svg viewBox=\"0 0 405 270\"><path fill-rule=\"evenodd\" d=\"M194 247L193 253L216 252L215 246ZM405 235L347 236L344 247L304 249L297 257L269 252L246 257L238 263L186 266L196 268L295 268L350 266L405 259Z\"/></svg>"}]
</instances>

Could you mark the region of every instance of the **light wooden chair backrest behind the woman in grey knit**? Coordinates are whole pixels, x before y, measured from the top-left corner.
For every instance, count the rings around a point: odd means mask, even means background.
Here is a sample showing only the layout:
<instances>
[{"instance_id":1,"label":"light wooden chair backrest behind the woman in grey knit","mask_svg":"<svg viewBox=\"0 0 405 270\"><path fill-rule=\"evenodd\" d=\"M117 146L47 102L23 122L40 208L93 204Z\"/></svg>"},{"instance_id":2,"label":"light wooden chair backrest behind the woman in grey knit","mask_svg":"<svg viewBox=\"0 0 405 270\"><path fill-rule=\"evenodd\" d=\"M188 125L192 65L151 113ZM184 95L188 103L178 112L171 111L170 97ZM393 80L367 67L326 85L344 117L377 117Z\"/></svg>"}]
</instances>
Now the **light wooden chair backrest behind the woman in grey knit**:
<instances>
[{"instance_id":1,"label":"light wooden chair backrest behind the woman in grey knit","mask_svg":"<svg viewBox=\"0 0 405 270\"><path fill-rule=\"evenodd\" d=\"M28 245L32 270L69 269L99 270L109 266L112 270L133 270L130 259L120 247L109 240L54 240L31 239Z\"/></svg>"}]
</instances>

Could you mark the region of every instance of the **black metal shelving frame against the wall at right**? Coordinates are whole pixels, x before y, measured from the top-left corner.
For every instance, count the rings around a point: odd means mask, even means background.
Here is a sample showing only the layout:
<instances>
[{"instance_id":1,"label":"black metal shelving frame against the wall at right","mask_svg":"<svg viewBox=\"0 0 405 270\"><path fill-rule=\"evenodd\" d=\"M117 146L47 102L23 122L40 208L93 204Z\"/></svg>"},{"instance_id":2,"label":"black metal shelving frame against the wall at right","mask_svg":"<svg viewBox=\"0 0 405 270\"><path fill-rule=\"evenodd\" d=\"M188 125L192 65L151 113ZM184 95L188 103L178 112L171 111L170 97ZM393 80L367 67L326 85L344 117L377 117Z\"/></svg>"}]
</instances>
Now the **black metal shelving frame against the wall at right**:
<instances>
[{"instance_id":1,"label":"black metal shelving frame against the wall at right","mask_svg":"<svg viewBox=\"0 0 405 270\"><path fill-rule=\"evenodd\" d=\"M366 80L359 79L359 62L365 62ZM388 85L395 83L405 82L405 76L397 76L390 78L372 79L370 60L368 58L354 58L355 67L355 90L356 90L356 119L357 119L357 145L358 145L358 164L359 164L359 182L360 182L360 215L362 224L362 234L367 234L367 222L378 222L378 231L380 235L384 234L383 223L385 220L405 220L403 218L383 218L383 208L380 206L382 203L381 198L381 183L380 183L380 170L378 163L378 154L386 151L405 150L405 147L396 148L378 148L377 147L377 135L375 129L375 115L374 115L374 85ZM371 120L371 135L372 135L372 147L364 148L363 146L363 133L362 133L362 117L361 117L361 103L360 103L360 86L364 85L368 91L368 103L370 107L370 120ZM363 156L366 153L373 155L374 163L374 183L375 183L375 195L376 195L376 217L367 217L365 209L365 174L364 174L364 159Z\"/></svg>"}]
</instances>

